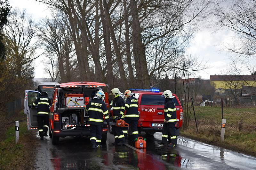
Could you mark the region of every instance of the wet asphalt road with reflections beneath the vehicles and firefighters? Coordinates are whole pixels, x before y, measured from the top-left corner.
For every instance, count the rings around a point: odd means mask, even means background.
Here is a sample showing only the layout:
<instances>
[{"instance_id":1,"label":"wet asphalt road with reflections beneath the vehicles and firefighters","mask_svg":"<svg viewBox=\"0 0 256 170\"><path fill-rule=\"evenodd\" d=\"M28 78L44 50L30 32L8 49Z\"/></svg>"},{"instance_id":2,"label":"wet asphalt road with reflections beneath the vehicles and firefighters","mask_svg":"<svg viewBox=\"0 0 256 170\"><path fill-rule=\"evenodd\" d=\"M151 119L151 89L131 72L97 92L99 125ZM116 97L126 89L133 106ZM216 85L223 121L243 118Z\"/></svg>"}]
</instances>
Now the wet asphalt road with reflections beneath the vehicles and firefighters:
<instances>
[{"instance_id":1,"label":"wet asphalt road with reflections beneath the vehicles and firefighters","mask_svg":"<svg viewBox=\"0 0 256 170\"><path fill-rule=\"evenodd\" d=\"M51 139L39 140L36 169L256 169L256 158L207 145L184 137L177 148L158 145L162 133L147 138L146 149L130 145L112 146L114 136L108 134L103 148L91 149L89 138L60 138L59 145Z\"/></svg>"}]
</instances>

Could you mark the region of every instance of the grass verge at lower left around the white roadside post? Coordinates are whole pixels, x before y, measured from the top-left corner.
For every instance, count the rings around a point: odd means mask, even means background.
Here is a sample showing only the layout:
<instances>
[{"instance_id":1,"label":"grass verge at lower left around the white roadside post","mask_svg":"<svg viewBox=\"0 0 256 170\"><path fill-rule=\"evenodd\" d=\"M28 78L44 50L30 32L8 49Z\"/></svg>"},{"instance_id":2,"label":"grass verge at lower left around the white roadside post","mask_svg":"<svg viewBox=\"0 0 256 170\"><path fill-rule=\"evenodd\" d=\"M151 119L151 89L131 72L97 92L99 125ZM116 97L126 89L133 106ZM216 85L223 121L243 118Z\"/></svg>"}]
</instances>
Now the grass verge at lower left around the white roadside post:
<instances>
[{"instance_id":1,"label":"grass verge at lower left around the white roadside post","mask_svg":"<svg viewBox=\"0 0 256 170\"><path fill-rule=\"evenodd\" d=\"M0 169L35 169L35 138L35 132L27 130L27 122L20 122L20 138L16 145L15 123L10 125L0 143Z\"/></svg>"}]
</instances>

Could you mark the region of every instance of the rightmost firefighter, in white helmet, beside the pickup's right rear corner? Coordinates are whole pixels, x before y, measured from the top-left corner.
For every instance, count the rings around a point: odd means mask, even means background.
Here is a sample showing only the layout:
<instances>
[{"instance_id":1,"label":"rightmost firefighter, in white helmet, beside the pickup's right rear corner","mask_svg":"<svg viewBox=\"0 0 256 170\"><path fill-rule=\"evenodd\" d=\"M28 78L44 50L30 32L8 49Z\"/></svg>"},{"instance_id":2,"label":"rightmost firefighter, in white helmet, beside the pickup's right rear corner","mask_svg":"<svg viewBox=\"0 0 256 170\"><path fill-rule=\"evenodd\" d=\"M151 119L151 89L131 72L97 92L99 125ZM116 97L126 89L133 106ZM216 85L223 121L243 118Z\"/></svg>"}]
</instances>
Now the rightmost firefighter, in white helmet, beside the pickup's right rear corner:
<instances>
[{"instance_id":1,"label":"rightmost firefighter, in white helmet, beside the pickup's right rear corner","mask_svg":"<svg viewBox=\"0 0 256 170\"><path fill-rule=\"evenodd\" d=\"M164 126L163 126L163 135L162 142L159 142L160 145L166 145L168 134L171 138L171 143L167 146L177 147L177 136L176 136L176 108L173 102L172 92L170 90L165 90L163 95L165 97L164 101Z\"/></svg>"}]
</instances>

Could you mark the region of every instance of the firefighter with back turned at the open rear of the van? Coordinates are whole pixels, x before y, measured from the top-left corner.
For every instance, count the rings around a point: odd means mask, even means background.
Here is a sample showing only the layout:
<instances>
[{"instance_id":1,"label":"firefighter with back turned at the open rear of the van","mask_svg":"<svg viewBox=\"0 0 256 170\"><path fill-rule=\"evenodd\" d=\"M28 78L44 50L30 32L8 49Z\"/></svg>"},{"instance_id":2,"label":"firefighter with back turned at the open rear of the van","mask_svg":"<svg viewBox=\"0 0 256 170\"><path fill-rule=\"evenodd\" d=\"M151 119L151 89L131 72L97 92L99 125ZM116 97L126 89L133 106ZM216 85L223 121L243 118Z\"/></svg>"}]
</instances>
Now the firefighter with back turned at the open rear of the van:
<instances>
[{"instance_id":1,"label":"firefighter with back turned at the open rear of the van","mask_svg":"<svg viewBox=\"0 0 256 170\"><path fill-rule=\"evenodd\" d=\"M99 90L92 100L86 105L85 110L89 113L89 124L90 124L90 141L92 149L100 148L101 143L101 132L103 125L103 116L109 124L108 109L106 104L103 102L105 94Z\"/></svg>"}]
</instances>

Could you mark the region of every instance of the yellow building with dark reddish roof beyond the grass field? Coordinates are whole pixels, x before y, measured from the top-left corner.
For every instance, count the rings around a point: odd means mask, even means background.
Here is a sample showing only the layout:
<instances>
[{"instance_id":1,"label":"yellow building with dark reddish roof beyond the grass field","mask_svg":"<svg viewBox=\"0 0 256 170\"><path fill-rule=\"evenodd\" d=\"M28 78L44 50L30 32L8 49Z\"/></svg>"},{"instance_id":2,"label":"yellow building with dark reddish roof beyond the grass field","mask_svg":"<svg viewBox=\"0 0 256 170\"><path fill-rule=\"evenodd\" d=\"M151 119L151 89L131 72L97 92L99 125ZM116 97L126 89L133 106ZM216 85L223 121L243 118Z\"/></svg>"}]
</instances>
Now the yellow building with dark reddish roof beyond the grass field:
<instances>
[{"instance_id":1,"label":"yellow building with dark reddish roof beyond the grass field","mask_svg":"<svg viewBox=\"0 0 256 170\"><path fill-rule=\"evenodd\" d=\"M256 75L210 75L210 83L215 86L215 89L234 89L234 85L227 86L228 84L237 84L236 89L241 89L243 85L256 86Z\"/></svg>"}]
</instances>

